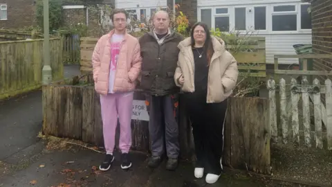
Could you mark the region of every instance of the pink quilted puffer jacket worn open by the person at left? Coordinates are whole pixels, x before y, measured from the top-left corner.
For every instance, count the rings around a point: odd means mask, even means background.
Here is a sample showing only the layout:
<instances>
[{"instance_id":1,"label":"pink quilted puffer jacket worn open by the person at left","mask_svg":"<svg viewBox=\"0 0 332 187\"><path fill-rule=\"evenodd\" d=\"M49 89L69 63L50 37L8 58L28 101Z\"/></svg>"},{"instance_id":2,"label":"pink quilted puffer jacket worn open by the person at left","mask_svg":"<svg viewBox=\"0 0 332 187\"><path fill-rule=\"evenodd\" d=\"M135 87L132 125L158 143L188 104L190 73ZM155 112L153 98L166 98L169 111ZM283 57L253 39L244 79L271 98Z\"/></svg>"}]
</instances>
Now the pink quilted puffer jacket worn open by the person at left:
<instances>
[{"instance_id":1,"label":"pink quilted puffer jacket worn open by the person at left","mask_svg":"<svg viewBox=\"0 0 332 187\"><path fill-rule=\"evenodd\" d=\"M107 95L109 92L109 66L111 63L110 41L113 33L114 30L111 30L107 35L100 37L92 55L95 91L102 95ZM133 91L136 87L136 79L140 74L141 65L142 57L140 56L140 44L138 43L138 39L126 33L118 56L113 91Z\"/></svg>"}]
</instances>

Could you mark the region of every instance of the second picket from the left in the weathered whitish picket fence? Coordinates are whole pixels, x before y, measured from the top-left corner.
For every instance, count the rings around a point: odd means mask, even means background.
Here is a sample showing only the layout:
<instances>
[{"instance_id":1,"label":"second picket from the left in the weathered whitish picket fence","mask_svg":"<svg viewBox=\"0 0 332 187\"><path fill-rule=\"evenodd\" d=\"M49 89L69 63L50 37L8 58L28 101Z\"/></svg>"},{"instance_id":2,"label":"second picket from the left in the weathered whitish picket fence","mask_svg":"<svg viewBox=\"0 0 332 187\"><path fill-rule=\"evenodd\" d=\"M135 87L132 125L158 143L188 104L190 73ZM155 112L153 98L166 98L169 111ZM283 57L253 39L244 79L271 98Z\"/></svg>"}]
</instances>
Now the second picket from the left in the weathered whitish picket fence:
<instances>
[{"instance_id":1,"label":"second picket from the left in the weathered whitish picket fence","mask_svg":"<svg viewBox=\"0 0 332 187\"><path fill-rule=\"evenodd\" d=\"M280 124L282 125L282 142L287 143L288 138L288 123L287 123L287 98L286 98L286 81L284 78L280 79ZM275 112L277 113L277 112Z\"/></svg>"}]
</instances>

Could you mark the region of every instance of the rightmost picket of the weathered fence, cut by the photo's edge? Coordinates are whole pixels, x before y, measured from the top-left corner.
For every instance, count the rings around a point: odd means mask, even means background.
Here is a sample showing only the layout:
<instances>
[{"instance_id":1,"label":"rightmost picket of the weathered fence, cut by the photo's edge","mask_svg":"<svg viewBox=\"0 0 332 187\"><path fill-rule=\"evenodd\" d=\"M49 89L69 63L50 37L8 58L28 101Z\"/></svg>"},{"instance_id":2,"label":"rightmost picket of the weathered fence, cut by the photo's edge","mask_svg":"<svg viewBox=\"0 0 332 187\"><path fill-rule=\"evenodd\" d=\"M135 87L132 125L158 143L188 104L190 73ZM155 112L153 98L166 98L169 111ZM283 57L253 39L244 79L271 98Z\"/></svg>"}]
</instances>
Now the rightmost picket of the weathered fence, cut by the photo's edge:
<instances>
[{"instance_id":1,"label":"rightmost picket of the weathered fence, cut by the photo's edge","mask_svg":"<svg viewBox=\"0 0 332 187\"><path fill-rule=\"evenodd\" d=\"M327 132L327 148L332 150L332 82L330 79L325 80L326 85L326 132Z\"/></svg>"}]
</instances>

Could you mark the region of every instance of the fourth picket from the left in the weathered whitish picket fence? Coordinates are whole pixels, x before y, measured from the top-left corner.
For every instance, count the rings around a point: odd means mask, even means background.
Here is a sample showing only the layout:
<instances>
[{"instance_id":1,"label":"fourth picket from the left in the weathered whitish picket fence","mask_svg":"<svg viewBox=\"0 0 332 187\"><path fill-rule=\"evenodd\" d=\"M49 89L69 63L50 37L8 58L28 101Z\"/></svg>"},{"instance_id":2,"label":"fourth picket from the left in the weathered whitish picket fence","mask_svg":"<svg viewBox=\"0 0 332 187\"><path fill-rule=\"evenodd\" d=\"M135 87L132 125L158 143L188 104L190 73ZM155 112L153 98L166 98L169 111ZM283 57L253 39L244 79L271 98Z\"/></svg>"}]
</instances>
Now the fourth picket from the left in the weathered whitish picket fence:
<instances>
[{"instance_id":1,"label":"fourth picket from the left in the weathered whitish picket fence","mask_svg":"<svg viewBox=\"0 0 332 187\"><path fill-rule=\"evenodd\" d=\"M304 125L304 143L308 148L311 148L308 80L306 80L305 76L302 78L302 112Z\"/></svg>"}]
</instances>

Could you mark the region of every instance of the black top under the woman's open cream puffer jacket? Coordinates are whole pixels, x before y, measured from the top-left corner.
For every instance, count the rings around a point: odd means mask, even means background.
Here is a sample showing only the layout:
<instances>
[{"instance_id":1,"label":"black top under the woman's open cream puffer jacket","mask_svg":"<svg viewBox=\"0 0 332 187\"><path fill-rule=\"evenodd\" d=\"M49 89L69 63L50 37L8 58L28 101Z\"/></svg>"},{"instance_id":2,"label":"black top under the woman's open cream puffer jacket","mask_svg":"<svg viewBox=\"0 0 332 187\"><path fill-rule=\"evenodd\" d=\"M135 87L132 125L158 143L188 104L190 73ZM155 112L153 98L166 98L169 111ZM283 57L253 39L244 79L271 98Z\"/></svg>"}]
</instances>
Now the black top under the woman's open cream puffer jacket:
<instances>
[{"instance_id":1,"label":"black top under the woman's open cream puffer jacket","mask_svg":"<svg viewBox=\"0 0 332 187\"><path fill-rule=\"evenodd\" d=\"M195 64L195 74L194 74L194 85L195 92L205 93L208 91L208 73L209 66L208 60L206 58L206 52L204 48L192 48L192 53L194 53L194 64Z\"/></svg>"}]
</instances>

